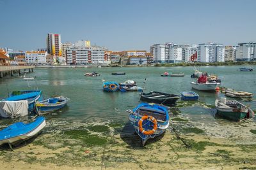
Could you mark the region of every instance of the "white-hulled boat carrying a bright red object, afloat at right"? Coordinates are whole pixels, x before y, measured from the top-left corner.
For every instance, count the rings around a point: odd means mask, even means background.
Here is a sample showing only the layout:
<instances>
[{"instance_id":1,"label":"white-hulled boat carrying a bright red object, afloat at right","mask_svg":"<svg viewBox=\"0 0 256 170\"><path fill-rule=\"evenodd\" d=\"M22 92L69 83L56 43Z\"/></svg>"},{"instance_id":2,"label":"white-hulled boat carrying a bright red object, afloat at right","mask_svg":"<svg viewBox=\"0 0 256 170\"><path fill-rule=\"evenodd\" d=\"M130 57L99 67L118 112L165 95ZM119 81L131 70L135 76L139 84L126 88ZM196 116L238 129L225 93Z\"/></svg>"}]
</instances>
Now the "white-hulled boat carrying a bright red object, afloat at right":
<instances>
[{"instance_id":1,"label":"white-hulled boat carrying a bright red object, afloat at right","mask_svg":"<svg viewBox=\"0 0 256 170\"><path fill-rule=\"evenodd\" d=\"M220 83L216 81L209 82L207 81L207 76L202 75L198 78L197 82L191 82L191 87L196 90L204 90L204 91L210 91L215 90L216 87L218 87Z\"/></svg>"}]
</instances>

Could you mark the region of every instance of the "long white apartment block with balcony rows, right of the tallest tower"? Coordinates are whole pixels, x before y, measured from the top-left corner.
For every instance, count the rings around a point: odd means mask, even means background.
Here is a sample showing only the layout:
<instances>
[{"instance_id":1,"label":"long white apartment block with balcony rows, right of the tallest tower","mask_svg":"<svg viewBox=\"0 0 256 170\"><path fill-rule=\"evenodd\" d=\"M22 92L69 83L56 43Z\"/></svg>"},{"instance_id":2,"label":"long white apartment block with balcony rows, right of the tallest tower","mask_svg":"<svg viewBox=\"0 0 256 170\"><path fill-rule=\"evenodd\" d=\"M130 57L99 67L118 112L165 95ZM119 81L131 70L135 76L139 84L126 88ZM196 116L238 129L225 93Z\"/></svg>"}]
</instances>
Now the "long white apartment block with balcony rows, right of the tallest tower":
<instances>
[{"instance_id":1,"label":"long white apartment block with balcony rows, right of the tallest tower","mask_svg":"<svg viewBox=\"0 0 256 170\"><path fill-rule=\"evenodd\" d=\"M67 48L67 64L108 64L102 46L70 46Z\"/></svg>"}]
</instances>

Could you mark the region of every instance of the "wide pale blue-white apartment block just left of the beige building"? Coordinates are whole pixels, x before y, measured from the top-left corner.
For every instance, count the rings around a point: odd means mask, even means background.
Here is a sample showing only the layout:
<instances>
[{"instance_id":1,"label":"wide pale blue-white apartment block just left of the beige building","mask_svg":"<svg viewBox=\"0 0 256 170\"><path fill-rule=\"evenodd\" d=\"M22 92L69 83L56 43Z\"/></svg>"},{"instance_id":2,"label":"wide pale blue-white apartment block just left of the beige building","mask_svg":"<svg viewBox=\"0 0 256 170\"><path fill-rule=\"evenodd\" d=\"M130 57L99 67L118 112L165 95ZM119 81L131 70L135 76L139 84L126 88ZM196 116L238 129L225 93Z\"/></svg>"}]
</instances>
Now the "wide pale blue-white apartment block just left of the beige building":
<instances>
[{"instance_id":1,"label":"wide pale blue-white apartment block just left of the beige building","mask_svg":"<svg viewBox=\"0 0 256 170\"><path fill-rule=\"evenodd\" d=\"M199 44L197 57L199 62L224 62L225 48L222 44Z\"/></svg>"}]
</instances>

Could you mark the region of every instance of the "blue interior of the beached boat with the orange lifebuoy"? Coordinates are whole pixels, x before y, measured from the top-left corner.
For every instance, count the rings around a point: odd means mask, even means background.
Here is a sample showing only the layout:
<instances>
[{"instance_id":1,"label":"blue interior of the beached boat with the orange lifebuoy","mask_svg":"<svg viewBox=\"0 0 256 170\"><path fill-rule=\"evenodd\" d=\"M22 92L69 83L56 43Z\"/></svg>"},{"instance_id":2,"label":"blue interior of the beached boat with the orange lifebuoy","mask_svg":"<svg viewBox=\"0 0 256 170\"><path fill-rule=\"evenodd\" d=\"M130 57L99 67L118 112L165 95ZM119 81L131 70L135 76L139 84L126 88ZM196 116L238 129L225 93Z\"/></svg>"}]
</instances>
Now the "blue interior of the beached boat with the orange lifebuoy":
<instances>
[{"instance_id":1,"label":"blue interior of the beached boat with the orange lifebuoy","mask_svg":"<svg viewBox=\"0 0 256 170\"><path fill-rule=\"evenodd\" d=\"M136 110L136 113L138 113L141 117L148 115L156 118L156 120L158 121L166 121L166 113L164 111L156 110L154 108L140 107L138 110Z\"/></svg>"}]
</instances>

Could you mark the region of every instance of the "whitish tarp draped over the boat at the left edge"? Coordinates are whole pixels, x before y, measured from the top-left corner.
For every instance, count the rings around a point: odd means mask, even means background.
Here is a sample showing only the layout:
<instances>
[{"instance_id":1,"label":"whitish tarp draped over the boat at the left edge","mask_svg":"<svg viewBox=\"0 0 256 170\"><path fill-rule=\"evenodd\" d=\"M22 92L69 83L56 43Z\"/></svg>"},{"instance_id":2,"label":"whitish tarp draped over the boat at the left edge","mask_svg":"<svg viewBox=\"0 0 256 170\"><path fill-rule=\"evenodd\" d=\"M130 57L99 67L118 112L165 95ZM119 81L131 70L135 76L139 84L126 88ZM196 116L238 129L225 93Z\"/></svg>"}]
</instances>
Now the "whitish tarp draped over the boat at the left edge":
<instances>
[{"instance_id":1,"label":"whitish tarp draped over the boat at the left edge","mask_svg":"<svg viewBox=\"0 0 256 170\"><path fill-rule=\"evenodd\" d=\"M28 101L0 101L0 115L4 118L28 115Z\"/></svg>"}]
</instances>

